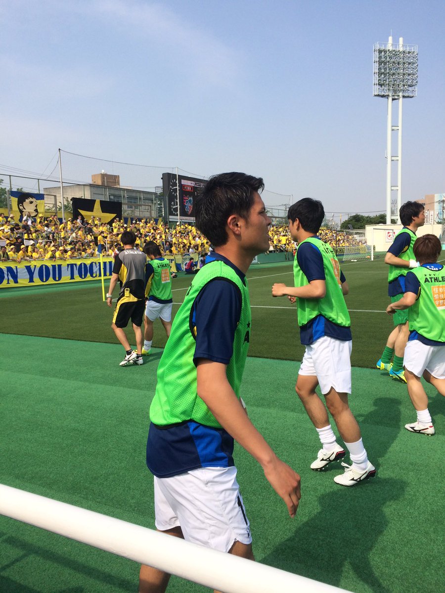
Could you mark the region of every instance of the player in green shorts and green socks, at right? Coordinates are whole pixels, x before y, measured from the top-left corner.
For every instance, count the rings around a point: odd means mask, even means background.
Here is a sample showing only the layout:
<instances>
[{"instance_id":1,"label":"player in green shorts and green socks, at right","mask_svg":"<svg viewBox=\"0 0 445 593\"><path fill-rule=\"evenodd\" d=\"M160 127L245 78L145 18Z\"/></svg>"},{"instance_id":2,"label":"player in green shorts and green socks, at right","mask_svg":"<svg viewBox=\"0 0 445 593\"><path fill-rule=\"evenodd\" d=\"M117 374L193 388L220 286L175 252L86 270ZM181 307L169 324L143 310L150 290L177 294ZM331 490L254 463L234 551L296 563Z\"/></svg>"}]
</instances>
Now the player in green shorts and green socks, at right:
<instances>
[{"instance_id":1,"label":"player in green shorts and green socks, at right","mask_svg":"<svg viewBox=\"0 0 445 593\"><path fill-rule=\"evenodd\" d=\"M384 256L384 263L389 265L388 296L391 302L397 302L405 292L405 276L409 269L418 267L419 263L414 257L414 243L416 232L425 224L425 209L418 202L406 202L399 210L400 221L403 228L396 234L392 246ZM389 334L382 356L376 367L389 372L391 377L406 383L403 372L403 352L408 340L408 313L397 310L394 313L395 328ZM391 359L394 356L394 361Z\"/></svg>"}]
</instances>

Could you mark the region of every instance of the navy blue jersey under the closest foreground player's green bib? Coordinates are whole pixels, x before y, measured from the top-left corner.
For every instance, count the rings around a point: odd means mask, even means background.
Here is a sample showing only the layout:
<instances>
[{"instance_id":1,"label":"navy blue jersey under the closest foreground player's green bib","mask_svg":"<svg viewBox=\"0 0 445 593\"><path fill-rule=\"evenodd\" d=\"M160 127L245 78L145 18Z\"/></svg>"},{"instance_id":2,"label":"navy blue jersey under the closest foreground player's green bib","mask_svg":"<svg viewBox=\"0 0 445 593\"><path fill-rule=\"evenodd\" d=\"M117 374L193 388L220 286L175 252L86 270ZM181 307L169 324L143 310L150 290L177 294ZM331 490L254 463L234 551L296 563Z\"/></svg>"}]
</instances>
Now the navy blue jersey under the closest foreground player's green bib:
<instances>
[{"instance_id":1,"label":"navy blue jersey under the closest foreground player's green bib","mask_svg":"<svg viewBox=\"0 0 445 593\"><path fill-rule=\"evenodd\" d=\"M245 284L246 276L227 258L214 259L232 267ZM196 328L193 362L207 359L228 364L233 354L235 330L240 320L239 289L224 279L209 282L193 304L192 324ZM188 420L167 427L150 425L147 465L157 477L171 477L199 467L231 467L234 441L224 429Z\"/></svg>"}]
</instances>

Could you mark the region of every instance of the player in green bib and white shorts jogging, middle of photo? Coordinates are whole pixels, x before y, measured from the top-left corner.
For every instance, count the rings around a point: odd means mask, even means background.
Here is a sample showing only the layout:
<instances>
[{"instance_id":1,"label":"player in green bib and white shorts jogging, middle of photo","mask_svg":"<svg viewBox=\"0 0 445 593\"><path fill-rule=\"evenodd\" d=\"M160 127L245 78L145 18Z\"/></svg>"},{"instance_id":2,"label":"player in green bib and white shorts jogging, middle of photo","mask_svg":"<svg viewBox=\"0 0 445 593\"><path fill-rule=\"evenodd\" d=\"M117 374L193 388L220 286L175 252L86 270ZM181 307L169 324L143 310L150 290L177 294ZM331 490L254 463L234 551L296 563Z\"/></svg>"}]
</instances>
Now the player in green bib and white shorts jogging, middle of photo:
<instances>
[{"instance_id":1,"label":"player in green bib and white shorts jogging, middle of photo","mask_svg":"<svg viewBox=\"0 0 445 593\"><path fill-rule=\"evenodd\" d=\"M348 404L351 393L351 321L344 296L349 288L332 247L317 232L325 211L319 200L306 197L288 211L289 231L297 241L294 259L295 286L276 283L274 297L287 296L297 302L301 343L306 346L295 390L300 397L322 443L311 469L323 470L332 461L344 457L336 442L325 404L315 389L320 385L326 406L348 448L352 464L342 464L343 474L334 481L355 486L374 477L376 469L368 461L360 427Z\"/></svg>"}]
</instances>

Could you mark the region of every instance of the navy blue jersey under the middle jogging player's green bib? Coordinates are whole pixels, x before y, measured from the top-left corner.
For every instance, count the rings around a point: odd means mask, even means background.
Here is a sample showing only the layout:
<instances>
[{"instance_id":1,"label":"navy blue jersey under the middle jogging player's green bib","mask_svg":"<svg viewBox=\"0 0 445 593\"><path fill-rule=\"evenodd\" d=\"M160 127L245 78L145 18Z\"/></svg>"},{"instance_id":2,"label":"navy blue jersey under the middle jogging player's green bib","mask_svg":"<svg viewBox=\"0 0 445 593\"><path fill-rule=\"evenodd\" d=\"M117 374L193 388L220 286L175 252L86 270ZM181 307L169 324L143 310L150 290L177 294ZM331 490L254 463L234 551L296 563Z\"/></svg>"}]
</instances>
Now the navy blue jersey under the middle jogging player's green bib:
<instances>
[{"instance_id":1,"label":"navy blue jersey under the middle jogging player's green bib","mask_svg":"<svg viewBox=\"0 0 445 593\"><path fill-rule=\"evenodd\" d=\"M320 239L320 237L316 238ZM308 282L326 280L322 254L313 244L303 243L298 247L297 262ZM340 282L346 282L343 272L340 272ZM303 345L309 345L323 336L343 341L352 340L350 327L339 326L323 315L317 315L309 323L300 327L300 340Z\"/></svg>"}]
</instances>

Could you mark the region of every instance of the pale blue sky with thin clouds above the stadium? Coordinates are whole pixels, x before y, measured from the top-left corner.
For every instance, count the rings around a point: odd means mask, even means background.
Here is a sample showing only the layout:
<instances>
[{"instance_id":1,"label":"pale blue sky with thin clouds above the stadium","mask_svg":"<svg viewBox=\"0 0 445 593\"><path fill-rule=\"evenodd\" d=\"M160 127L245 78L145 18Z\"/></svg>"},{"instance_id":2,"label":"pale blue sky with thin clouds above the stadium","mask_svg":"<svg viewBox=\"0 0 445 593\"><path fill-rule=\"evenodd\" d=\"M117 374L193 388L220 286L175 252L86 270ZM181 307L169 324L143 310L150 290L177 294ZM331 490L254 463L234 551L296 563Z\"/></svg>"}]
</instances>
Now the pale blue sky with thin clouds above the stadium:
<instances>
[{"instance_id":1,"label":"pale blue sky with thin clouds above the stadium","mask_svg":"<svg viewBox=\"0 0 445 593\"><path fill-rule=\"evenodd\" d=\"M443 1L0 0L0 20L0 173L48 174L62 148L203 177L245 171L264 178L268 205L292 195L329 215L384 211L373 44L392 32L419 49L402 199L445 191ZM85 181L100 171L69 166Z\"/></svg>"}]
</instances>

